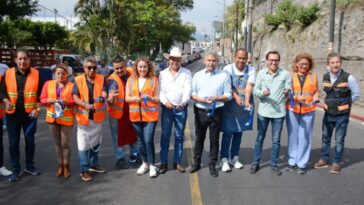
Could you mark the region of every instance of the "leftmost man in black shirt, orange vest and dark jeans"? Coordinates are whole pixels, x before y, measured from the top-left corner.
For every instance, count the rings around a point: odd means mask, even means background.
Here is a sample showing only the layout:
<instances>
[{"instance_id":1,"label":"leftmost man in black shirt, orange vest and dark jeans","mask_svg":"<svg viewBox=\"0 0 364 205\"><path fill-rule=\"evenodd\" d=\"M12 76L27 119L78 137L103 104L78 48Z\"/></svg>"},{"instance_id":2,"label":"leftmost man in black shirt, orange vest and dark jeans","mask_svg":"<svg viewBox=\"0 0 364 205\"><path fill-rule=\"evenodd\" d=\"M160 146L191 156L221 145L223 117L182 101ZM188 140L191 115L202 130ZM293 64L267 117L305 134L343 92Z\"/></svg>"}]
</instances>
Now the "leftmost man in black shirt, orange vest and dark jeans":
<instances>
[{"instance_id":1,"label":"leftmost man in black shirt, orange vest and dark jeans","mask_svg":"<svg viewBox=\"0 0 364 205\"><path fill-rule=\"evenodd\" d=\"M10 182L16 182L21 176L20 166L20 132L23 128L25 138L25 172L40 175L34 166L37 117L40 111L39 96L42 89L40 73L30 67L27 50L19 49L15 54L16 67L5 72L1 82L0 100L5 104L7 130L9 136L9 153L13 173Z\"/></svg>"}]
</instances>

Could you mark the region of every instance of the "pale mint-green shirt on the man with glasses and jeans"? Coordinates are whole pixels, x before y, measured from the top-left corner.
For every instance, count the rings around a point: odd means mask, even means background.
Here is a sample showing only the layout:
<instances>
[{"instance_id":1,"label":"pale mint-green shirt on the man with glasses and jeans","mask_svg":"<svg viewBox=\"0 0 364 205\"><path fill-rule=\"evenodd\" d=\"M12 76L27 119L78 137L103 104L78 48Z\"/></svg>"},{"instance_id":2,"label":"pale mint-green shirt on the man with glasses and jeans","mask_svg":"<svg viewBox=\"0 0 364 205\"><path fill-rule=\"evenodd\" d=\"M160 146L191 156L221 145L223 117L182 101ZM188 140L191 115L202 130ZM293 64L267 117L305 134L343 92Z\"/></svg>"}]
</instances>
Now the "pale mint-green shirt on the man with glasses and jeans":
<instances>
[{"instance_id":1,"label":"pale mint-green shirt on the man with glasses and jeans","mask_svg":"<svg viewBox=\"0 0 364 205\"><path fill-rule=\"evenodd\" d=\"M269 118L284 117L287 98L283 91L291 88L292 79L288 71L278 68L273 75L268 72L268 68L260 70L253 89L253 94L260 99L258 114ZM264 96L263 92L267 89L270 95Z\"/></svg>"}]
</instances>

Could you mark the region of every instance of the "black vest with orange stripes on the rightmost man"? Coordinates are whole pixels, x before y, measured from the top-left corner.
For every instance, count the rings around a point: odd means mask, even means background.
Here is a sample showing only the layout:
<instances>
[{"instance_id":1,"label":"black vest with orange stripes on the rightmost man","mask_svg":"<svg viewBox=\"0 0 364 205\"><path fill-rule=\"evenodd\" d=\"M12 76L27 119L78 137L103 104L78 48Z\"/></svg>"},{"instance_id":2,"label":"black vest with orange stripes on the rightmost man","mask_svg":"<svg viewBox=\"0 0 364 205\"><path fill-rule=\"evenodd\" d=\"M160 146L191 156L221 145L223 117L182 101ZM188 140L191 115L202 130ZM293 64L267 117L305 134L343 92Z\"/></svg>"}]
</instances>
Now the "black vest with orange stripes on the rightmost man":
<instances>
[{"instance_id":1,"label":"black vest with orange stripes on the rightmost man","mask_svg":"<svg viewBox=\"0 0 364 205\"><path fill-rule=\"evenodd\" d=\"M349 73L341 70L335 83L331 83L330 73L323 78L325 97L325 111L330 115L350 113L351 90L349 88Z\"/></svg>"}]
</instances>

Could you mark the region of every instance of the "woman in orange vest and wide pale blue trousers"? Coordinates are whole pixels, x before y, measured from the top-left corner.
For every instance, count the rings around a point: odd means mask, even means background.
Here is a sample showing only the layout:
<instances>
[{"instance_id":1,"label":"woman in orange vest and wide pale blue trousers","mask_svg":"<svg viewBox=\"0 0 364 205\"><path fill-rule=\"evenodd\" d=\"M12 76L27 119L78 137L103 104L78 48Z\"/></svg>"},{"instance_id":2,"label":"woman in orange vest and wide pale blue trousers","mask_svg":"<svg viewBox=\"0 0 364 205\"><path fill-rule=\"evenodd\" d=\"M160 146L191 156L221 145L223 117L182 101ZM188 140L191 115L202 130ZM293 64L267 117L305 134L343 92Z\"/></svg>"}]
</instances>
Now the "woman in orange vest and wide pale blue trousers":
<instances>
[{"instance_id":1,"label":"woman in orange vest and wide pale blue trousers","mask_svg":"<svg viewBox=\"0 0 364 205\"><path fill-rule=\"evenodd\" d=\"M287 102L288 167L287 171L306 174L310 158L313 125L319 91L314 62L310 54L296 56L292 64L292 91Z\"/></svg>"}]
</instances>

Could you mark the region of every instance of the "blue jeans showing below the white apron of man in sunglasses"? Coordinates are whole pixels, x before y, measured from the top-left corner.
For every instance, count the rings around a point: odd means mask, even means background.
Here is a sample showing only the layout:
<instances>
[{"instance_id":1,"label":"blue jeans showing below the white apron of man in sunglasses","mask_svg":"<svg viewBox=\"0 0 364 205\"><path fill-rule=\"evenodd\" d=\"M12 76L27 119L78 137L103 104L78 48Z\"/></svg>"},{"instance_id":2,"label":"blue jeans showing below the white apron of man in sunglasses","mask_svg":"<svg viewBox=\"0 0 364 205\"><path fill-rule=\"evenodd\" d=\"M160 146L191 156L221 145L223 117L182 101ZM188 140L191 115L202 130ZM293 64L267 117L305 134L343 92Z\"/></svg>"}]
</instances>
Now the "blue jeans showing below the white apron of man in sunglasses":
<instances>
[{"instance_id":1,"label":"blue jeans showing below the white apron of man in sunglasses","mask_svg":"<svg viewBox=\"0 0 364 205\"><path fill-rule=\"evenodd\" d=\"M94 146L92 149L85 151L78 150L78 156L80 157L80 170L87 172L90 167L99 165L99 147L100 144Z\"/></svg>"}]
</instances>

